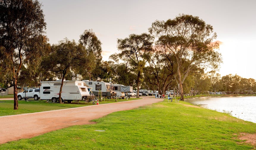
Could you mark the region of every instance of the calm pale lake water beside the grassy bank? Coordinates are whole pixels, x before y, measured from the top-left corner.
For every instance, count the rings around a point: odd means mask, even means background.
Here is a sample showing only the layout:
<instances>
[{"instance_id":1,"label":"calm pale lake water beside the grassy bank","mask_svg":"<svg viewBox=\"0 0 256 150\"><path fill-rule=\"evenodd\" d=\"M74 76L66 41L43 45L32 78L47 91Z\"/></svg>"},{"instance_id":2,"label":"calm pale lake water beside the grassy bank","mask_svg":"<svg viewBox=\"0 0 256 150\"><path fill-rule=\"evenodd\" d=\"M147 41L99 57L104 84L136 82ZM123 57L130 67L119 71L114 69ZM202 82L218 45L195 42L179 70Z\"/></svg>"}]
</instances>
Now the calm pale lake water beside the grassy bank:
<instances>
[{"instance_id":1,"label":"calm pale lake water beside the grassy bank","mask_svg":"<svg viewBox=\"0 0 256 150\"><path fill-rule=\"evenodd\" d=\"M185 101L219 112L229 111L233 117L256 123L256 96L200 97Z\"/></svg>"}]
</instances>

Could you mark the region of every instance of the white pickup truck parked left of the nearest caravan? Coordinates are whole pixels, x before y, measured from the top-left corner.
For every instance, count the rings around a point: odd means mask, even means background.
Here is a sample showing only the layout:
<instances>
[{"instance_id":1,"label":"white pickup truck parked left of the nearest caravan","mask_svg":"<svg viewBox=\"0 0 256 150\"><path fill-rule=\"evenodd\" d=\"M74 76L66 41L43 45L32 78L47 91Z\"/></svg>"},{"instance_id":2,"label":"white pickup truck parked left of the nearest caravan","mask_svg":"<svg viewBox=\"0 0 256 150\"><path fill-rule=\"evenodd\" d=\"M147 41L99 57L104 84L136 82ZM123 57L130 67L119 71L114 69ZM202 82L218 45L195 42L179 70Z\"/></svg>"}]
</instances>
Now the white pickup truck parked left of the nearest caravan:
<instances>
[{"instance_id":1,"label":"white pickup truck parked left of the nearest caravan","mask_svg":"<svg viewBox=\"0 0 256 150\"><path fill-rule=\"evenodd\" d=\"M18 93L18 100L34 98L34 100L40 99L40 89L27 89L23 92Z\"/></svg>"}]
</instances>

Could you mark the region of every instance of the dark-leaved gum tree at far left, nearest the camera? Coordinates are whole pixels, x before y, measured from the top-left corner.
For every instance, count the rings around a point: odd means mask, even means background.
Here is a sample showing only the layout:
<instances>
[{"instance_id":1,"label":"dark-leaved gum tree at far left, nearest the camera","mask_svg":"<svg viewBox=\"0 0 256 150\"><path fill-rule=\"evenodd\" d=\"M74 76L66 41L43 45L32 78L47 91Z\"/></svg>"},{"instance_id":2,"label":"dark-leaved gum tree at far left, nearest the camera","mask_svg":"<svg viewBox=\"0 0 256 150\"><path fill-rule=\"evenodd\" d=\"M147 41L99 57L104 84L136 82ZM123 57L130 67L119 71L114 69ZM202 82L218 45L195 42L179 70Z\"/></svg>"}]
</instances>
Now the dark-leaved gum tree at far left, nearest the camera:
<instances>
[{"instance_id":1,"label":"dark-leaved gum tree at far left, nearest the camera","mask_svg":"<svg viewBox=\"0 0 256 150\"><path fill-rule=\"evenodd\" d=\"M11 72L14 109L18 109L17 79L22 65L36 70L47 38L43 10L39 1L0 0L0 53L4 71ZM3 65L4 64L4 65Z\"/></svg>"}]
</instances>

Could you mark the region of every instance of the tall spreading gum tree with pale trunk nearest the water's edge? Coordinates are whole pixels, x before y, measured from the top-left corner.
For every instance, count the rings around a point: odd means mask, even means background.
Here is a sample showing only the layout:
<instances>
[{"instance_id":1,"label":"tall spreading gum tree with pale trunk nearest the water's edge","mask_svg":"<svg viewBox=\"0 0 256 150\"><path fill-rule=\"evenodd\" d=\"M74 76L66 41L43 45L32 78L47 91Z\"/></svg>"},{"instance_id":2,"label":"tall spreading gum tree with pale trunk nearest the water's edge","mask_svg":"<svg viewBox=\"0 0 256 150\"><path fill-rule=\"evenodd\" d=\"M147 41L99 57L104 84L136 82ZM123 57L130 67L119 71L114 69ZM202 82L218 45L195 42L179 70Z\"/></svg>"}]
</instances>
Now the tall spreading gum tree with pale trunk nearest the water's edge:
<instances>
[{"instance_id":1,"label":"tall spreading gum tree with pale trunk nearest the water's edge","mask_svg":"<svg viewBox=\"0 0 256 150\"><path fill-rule=\"evenodd\" d=\"M157 44L165 47L167 54L175 56L176 80L181 100L184 100L182 84L190 71L205 67L217 68L222 61L220 53L214 50L218 48L218 43L213 43L216 33L211 25L192 15L179 15L173 20L155 23L152 25L158 28L153 31L162 33Z\"/></svg>"}]
</instances>

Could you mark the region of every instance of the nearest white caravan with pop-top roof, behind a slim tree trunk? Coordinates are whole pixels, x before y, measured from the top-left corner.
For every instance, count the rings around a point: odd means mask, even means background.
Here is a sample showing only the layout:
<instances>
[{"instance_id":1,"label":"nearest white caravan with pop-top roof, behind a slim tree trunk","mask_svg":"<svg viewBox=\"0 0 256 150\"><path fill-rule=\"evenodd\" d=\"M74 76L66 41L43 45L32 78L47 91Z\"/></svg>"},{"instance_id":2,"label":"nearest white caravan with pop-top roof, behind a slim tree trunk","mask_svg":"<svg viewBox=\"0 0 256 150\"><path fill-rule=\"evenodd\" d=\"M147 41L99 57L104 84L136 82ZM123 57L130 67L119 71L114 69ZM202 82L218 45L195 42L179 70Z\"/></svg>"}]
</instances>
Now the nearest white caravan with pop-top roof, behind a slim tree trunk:
<instances>
[{"instance_id":1,"label":"nearest white caravan with pop-top roof, behind a slim tree trunk","mask_svg":"<svg viewBox=\"0 0 256 150\"><path fill-rule=\"evenodd\" d=\"M41 100L52 100L57 102L59 100L59 90L61 81L44 81L41 82L40 93ZM62 87L61 98L70 103L73 100L90 100L95 96L89 94L87 86L84 86L82 81L64 81Z\"/></svg>"}]
</instances>

